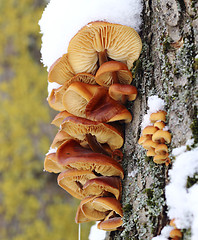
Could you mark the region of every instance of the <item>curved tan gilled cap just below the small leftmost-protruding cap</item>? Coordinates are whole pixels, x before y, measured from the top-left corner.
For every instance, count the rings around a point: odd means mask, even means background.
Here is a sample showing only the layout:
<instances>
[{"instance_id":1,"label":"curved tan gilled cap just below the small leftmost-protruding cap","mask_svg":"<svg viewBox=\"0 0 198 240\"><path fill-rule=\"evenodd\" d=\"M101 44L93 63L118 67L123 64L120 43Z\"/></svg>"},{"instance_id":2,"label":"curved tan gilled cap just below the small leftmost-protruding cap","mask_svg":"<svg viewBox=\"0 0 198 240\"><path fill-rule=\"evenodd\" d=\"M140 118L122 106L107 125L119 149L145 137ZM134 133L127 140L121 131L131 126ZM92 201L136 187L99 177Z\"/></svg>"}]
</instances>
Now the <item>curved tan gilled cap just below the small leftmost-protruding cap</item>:
<instances>
[{"instance_id":1,"label":"curved tan gilled cap just below the small leftmost-protruding cap","mask_svg":"<svg viewBox=\"0 0 198 240\"><path fill-rule=\"evenodd\" d=\"M83 199L87 193L83 190L84 184L95 178L93 172L87 170L68 169L58 175L58 185L70 193L73 197Z\"/></svg>"}]
</instances>

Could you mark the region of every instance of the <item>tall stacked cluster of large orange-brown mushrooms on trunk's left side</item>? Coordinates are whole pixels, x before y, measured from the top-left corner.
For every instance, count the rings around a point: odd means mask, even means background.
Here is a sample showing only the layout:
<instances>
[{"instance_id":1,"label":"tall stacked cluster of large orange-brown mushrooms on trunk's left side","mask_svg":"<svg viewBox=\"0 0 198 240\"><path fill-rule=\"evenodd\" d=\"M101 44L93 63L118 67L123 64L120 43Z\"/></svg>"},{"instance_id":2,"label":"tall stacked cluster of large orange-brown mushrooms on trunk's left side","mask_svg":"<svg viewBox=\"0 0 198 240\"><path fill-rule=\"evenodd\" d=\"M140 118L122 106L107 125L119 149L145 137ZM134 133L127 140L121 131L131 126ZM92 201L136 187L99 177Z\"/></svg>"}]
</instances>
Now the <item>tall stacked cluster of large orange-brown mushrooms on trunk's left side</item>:
<instances>
[{"instance_id":1,"label":"tall stacked cluster of large orange-brown mushrooms on trunk's left side","mask_svg":"<svg viewBox=\"0 0 198 240\"><path fill-rule=\"evenodd\" d=\"M100 221L106 231L123 223L120 148L123 123L132 120L124 104L137 96L130 70L141 48L134 29L91 22L49 70L48 81L59 85L48 96L59 130L44 169L59 173L58 185L81 200L76 223Z\"/></svg>"}]
</instances>

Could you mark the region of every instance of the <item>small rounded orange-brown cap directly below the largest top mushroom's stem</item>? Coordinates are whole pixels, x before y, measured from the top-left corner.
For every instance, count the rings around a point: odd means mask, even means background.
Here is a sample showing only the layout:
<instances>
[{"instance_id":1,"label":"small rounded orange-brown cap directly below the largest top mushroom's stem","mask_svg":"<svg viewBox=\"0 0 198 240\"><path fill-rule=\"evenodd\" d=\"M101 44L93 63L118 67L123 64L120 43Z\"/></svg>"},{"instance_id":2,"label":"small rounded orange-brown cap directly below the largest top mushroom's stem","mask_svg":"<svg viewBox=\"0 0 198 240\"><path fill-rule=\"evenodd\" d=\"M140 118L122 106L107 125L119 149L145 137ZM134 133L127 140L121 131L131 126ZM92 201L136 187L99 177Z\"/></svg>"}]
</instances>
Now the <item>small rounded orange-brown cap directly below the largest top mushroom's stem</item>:
<instances>
[{"instance_id":1,"label":"small rounded orange-brown cap directly below the largest top mushroom's stem","mask_svg":"<svg viewBox=\"0 0 198 240\"><path fill-rule=\"evenodd\" d=\"M121 84L130 84L133 77L126 64L117 61L108 61L103 63L96 72L96 82L105 87L114 83L113 73L116 74L116 80Z\"/></svg>"}]
</instances>

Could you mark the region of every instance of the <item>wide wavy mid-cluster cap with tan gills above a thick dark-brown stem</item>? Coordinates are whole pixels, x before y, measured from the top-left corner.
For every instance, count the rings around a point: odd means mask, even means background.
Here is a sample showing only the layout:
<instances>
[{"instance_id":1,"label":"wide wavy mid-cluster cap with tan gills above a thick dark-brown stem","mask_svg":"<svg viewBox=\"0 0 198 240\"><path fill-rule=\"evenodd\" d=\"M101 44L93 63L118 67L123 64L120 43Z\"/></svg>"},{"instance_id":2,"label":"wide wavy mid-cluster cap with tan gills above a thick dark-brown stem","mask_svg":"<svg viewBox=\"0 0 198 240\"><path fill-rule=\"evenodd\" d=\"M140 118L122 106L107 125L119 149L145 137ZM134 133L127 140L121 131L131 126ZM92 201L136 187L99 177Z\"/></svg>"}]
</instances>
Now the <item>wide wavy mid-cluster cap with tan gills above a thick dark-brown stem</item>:
<instances>
[{"instance_id":1,"label":"wide wavy mid-cluster cap with tan gills above a thick dark-brown stem","mask_svg":"<svg viewBox=\"0 0 198 240\"><path fill-rule=\"evenodd\" d=\"M80 141L86 140L86 134L95 135L99 143L107 143L112 150L121 148L124 143L122 133L110 124L70 116L64 119L61 127Z\"/></svg>"}]
</instances>

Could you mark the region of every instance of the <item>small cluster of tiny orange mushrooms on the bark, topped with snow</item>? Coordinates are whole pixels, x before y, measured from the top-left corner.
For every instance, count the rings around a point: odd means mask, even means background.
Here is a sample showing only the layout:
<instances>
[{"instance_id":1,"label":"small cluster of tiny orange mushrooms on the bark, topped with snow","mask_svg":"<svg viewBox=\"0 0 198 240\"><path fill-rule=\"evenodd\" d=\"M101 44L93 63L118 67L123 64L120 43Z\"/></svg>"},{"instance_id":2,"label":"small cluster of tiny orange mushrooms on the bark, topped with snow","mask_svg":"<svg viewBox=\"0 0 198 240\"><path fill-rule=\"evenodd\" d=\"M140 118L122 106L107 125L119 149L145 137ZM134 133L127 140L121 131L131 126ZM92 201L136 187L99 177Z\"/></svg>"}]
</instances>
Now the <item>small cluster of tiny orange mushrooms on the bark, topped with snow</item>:
<instances>
[{"instance_id":1,"label":"small cluster of tiny orange mushrooms on the bark, topped with snow","mask_svg":"<svg viewBox=\"0 0 198 240\"><path fill-rule=\"evenodd\" d=\"M146 126L142 130L138 143L147 150L146 155L148 157L153 157L155 163L165 163L169 165L170 158L167 144L171 142L171 134L166 130L165 121L165 111L152 113L150 115L150 122L152 125Z\"/></svg>"}]
</instances>

